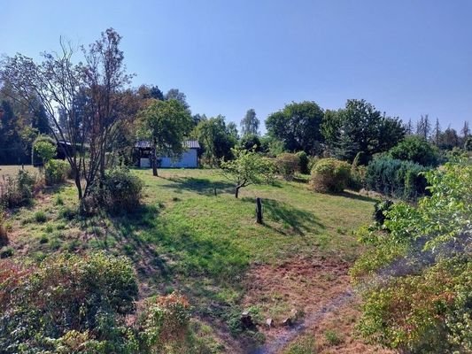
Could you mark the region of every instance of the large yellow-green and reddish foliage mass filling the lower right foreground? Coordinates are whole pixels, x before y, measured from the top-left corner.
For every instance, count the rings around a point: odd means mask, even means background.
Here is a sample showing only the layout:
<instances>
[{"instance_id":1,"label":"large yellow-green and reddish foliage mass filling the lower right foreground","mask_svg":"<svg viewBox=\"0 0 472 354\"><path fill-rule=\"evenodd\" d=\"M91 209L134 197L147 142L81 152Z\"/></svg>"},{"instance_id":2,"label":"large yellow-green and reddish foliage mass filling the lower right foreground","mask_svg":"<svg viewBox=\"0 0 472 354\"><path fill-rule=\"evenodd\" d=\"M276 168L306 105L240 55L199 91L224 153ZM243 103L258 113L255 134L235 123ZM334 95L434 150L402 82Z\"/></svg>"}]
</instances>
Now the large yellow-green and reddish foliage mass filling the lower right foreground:
<instances>
[{"instance_id":1,"label":"large yellow-green and reddish foliage mass filling the lower right foreground","mask_svg":"<svg viewBox=\"0 0 472 354\"><path fill-rule=\"evenodd\" d=\"M472 165L448 163L425 174L431 196L417 206L394 204L384 227L364 232L362 240L375 248L352 268L355 281L369 284L362 289L359 330L370 342L397 350L468 352ZM383 279L372 281L377 271Z\"/></svg>"}]
</instances>

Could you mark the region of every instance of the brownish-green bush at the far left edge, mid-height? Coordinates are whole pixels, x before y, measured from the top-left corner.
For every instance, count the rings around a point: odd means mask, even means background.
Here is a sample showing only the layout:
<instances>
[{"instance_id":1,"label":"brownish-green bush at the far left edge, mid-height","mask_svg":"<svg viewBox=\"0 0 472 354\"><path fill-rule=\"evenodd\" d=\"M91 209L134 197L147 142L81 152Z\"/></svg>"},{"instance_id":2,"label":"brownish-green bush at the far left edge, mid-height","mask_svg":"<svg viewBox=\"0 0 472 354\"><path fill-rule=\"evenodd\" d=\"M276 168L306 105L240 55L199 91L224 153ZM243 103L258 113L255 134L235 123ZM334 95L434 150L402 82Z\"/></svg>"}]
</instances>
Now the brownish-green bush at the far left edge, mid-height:
<instances>
[{"instance_id":1,"label":"brownish-green bush at the far left edge, mid-height","mask_svg":"<svg viewBox=\"0 0 472 354\"><path fill-rule=\"evenodd\" d=\"M35 177L27 171L19 170L15 176L8 176L0 185L0 204L7 208L14 208L31 202Z\"/></svg>"}]
</instances>

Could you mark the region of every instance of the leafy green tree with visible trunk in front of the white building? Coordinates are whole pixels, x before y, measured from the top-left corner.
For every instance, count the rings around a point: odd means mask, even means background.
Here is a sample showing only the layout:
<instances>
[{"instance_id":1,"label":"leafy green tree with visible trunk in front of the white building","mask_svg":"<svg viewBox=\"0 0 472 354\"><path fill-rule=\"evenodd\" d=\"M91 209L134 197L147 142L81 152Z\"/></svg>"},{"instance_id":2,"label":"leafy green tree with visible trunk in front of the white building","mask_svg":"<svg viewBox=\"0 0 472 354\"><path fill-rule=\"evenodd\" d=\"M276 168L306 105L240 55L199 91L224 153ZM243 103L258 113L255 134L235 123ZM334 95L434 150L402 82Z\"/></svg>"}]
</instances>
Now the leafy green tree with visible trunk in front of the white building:
<instances>
[{"instance_id":1,"label":"leafy green tree with visible trunk in front of the white building","mask_svg":"<svg viewBox=\"0 0 472 354\"><path fill-rule=\"evenodd\" d=\"M184 139L190 134L190 112L177 100L153 100L141 113L139 136L151 141L152 175L158 176L156 157L179 157L185 150Z\"/></svg>"}]
</instances>

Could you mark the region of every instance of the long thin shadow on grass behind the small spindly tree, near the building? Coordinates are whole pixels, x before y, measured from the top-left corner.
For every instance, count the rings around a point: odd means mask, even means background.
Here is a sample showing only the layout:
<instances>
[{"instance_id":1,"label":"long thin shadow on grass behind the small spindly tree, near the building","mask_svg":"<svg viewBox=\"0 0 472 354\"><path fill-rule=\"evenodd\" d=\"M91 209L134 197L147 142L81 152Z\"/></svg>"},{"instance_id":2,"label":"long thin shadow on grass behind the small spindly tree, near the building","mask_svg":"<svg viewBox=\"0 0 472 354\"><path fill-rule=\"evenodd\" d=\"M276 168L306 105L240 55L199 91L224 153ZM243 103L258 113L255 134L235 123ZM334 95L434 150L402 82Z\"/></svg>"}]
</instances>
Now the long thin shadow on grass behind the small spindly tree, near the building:
<instances>
[{"instance_id":1,"label":"long thin shadow on grass behind the small spindly tree, near the building","mask_svg":"<svg viewBox=\"0 0 472 354\"><path fill-rule=\"evenodd\" d=\"M173 177L167 178L167 181L174 183L164 184L160 187L166 189L174 189L176 193L182 193L182 190L188 190L203 196L213 196L214 189L216 193L234 193L235 186L233 183L226 181L211 181L206 178L195 177Z\"/></svg>"}]
</instances>

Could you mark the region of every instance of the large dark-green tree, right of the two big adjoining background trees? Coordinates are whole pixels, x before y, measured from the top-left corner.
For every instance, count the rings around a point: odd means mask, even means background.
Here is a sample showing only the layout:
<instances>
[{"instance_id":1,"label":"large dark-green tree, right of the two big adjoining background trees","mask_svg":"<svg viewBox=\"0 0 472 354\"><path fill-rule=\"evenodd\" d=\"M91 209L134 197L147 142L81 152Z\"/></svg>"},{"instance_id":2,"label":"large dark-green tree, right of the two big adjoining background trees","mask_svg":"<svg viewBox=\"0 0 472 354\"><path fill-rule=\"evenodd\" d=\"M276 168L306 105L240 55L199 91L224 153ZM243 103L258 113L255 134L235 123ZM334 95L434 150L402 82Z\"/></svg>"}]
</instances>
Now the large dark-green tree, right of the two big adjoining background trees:
<instances>
[{"instance_id":1,"label":"large dark-green tree, right of the two big adjoining background trees","mask_svg":"<svg viewBox=\"0 0 472 354\"><path fill-rule=\"evenodd\" d=\"M351 162L361 152L362 164L375 153L390 150L405 136L399 119L385 116L365 100L348 100L343 110L327 111L321 131L329 150Z\"/></svg>"}]
</instances>

